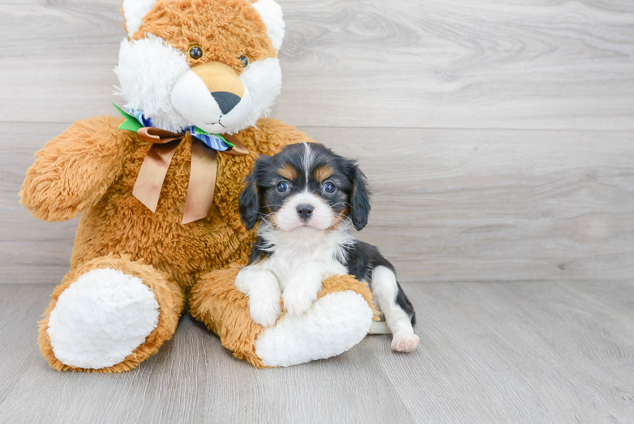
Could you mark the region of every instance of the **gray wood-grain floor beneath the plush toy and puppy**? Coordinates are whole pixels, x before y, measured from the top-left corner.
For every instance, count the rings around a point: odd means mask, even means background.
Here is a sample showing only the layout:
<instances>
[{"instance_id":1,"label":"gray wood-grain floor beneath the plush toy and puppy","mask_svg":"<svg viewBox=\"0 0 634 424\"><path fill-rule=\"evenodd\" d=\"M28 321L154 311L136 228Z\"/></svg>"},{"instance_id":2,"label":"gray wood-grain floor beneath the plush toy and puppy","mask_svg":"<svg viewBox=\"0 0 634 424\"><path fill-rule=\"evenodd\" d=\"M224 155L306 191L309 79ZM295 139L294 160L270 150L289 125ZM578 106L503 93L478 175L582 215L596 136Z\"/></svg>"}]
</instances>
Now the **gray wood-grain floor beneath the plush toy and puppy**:
<instances>
[{"instance_id":1,"label":"gray wood-grain floor beneath the plush toy and puppy","mask_svg":"<svg viewBox=\"0 0 634 424\"><path fill-rule=\"evenodd\" d=\"M405 284L421 344L368 336L290 368L234 359L188 316L129 373L59 373L36 345L51 285L0 286L0 423L630 423L634 284Z\"/></svg>"}]
</instances>

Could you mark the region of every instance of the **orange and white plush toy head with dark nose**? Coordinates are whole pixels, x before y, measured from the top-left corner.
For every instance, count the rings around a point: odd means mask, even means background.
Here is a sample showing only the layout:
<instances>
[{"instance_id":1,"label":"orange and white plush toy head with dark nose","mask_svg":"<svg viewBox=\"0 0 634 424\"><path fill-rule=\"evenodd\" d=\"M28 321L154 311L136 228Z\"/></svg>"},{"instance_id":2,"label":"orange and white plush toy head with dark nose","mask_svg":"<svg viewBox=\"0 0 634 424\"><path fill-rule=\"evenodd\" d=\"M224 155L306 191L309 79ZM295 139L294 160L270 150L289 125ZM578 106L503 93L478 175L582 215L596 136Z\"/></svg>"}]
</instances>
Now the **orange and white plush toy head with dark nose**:
<instances>
[{"instance_id":1,"label":"orange and white plush toy head with dark nose","mask_svg":"<svg viewBox=\"0 0 634 424\"><path fill-rule=\"evenodd\" d=\"M123 0L117 94L153 126L235 134L269 113L284 36L274 0Z\"/></svg>"}]
</instances>

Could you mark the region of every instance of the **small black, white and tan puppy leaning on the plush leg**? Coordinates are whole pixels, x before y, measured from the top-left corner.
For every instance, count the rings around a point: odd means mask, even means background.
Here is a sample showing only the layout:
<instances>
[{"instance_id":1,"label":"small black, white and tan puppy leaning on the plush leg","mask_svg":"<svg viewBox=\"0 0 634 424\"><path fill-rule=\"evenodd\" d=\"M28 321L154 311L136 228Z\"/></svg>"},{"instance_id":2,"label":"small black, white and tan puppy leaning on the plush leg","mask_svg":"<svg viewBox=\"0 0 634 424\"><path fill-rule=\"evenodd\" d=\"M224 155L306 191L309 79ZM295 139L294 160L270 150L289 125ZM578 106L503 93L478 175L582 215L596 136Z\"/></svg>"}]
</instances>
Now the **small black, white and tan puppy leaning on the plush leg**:
<instances>
[{"instance_id":1,"label":"small black, white and tan puppy leaning on the plush leg","mask_svg":"<svg viewBox=\"0 0 634 424\"><path fill-rule=\"evenodd\" d=\"M370 333L392 333L392 349L418 345L414 309L396 281L394 267L378 249L351 234L370 213L366 179L353 160L317 143L289 145L260 157L240 195L248 229L260 222L251 259L236 278L249 297L253 320L272 326L281 315L307 312L331 276L352 274L367 281L385 321Z\"/></svg>"}]
</instances>

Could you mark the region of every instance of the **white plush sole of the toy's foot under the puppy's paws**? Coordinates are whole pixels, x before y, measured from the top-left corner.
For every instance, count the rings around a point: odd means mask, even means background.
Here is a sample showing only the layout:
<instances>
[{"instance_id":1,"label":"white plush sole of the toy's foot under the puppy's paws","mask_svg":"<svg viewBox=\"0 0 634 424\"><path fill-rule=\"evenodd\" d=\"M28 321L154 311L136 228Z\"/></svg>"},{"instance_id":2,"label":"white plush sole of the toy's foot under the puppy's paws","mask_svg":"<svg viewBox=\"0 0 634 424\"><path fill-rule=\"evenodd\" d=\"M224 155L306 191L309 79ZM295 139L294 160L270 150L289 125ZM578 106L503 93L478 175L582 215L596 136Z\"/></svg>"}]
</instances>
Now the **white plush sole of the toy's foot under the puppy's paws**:
<instances>
[{"instance_id":1,"label":"white plush sole of the toy's foot under the puppy's paws","mask_svg":"<svg viewBox=\"0 0 634 424\"><path fill-rule=\"evenodd\" d=\"M290 366L339 355L361 342L372 324L363 296L330 293L303 316L283 316L256 340L256 354L268 366Z\"/></svg>"}]
</instances>

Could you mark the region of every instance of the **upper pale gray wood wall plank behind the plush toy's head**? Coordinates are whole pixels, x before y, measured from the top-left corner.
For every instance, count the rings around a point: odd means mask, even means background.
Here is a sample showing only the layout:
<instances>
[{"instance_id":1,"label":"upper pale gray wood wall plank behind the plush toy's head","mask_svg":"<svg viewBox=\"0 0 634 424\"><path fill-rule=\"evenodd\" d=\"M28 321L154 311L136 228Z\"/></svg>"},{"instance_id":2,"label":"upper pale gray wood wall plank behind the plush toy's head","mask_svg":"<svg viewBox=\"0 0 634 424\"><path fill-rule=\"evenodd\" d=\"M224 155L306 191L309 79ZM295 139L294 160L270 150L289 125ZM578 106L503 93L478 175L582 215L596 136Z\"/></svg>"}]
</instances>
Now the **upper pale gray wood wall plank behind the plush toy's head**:
<instances>
[{"instance_id":1,"label":"upper pale gray wood wall plank behind the plush toy's head","mask_svg":"<svg viewBox=\"0 0 634 424\"><path fill-rule=\"evenodd\" d=\"M0 120L111 113L119 3L2 1ZM280 3L292 124L634 129L630 1Z\"/></svg>"}]
</instances>

